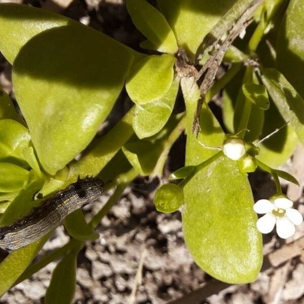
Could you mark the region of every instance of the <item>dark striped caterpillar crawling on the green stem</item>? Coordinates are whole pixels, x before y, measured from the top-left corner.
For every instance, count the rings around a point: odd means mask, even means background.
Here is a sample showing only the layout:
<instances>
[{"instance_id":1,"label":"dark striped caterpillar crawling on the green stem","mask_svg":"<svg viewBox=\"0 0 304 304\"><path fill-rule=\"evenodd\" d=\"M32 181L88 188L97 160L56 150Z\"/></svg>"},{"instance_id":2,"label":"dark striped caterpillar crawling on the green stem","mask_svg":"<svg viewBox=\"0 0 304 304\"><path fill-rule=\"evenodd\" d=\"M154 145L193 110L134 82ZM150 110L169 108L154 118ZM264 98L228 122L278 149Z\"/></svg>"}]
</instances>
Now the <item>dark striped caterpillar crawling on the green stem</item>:
<instances>
[{"instance_id":1,"label":"dark striped caterpillar crawling on the green stem","mask_svg":"<svg viewBox=\"0 0 304 304\"><path fill-rule=\"evenodd\" d=\"M71 212L96 201L103 191L99 178L80 179L47 199L32 213L0 228L0 247L16 250L33 243L56 228Z\"/></svg>"}]
</instances>

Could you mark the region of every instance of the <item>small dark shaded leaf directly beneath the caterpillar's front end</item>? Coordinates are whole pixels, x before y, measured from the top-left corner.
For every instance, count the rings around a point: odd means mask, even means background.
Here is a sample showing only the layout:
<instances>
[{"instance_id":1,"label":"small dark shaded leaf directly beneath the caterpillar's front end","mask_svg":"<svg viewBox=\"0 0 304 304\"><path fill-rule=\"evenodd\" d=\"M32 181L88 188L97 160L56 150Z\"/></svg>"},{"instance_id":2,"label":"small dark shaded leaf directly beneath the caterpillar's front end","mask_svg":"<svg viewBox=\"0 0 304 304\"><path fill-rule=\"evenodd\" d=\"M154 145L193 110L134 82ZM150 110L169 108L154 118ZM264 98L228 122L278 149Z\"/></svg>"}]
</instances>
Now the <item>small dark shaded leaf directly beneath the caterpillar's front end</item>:
<instances>
[{"instance_id":1,"label":"small dark shaded leaf directly beneath the caterpillar's front end","mask_svg":"<svg viewBox=\"0 0 304 304\"><path fill-rule=\"evenodd\" d=\"M64 226L68 234L74 239L86 241L99 238L99 234L88 225L81 209L69 214L64 220Z\"/></svg>"}]
</instances>

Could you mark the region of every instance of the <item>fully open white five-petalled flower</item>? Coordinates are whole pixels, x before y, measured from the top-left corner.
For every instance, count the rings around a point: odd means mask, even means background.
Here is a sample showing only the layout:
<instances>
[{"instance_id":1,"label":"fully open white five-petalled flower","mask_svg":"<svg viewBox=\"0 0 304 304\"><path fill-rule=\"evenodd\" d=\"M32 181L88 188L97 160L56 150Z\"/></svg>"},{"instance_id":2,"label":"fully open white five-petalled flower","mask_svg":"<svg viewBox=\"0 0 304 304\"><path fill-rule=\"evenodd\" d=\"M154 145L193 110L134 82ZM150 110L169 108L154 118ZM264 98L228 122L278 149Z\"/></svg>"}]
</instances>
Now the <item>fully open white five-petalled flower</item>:
<instances>
[{"instance_id":1,"label":"fully open white five-petalled flower","mask_svg":"<svg viewBox=\"0 0 304 304\"><path fill-rule=\"evenodd\" d=\"M277 234L282 239L294 235L295 225L301 224L303 216L297 210L291 208L292 201L286 197L278 197L274 202L259 200L253 205L253 210L259 214L265 214L256 222L257 230L261 233L270 233L275 224Z\"/></svg>"}]
</instances>

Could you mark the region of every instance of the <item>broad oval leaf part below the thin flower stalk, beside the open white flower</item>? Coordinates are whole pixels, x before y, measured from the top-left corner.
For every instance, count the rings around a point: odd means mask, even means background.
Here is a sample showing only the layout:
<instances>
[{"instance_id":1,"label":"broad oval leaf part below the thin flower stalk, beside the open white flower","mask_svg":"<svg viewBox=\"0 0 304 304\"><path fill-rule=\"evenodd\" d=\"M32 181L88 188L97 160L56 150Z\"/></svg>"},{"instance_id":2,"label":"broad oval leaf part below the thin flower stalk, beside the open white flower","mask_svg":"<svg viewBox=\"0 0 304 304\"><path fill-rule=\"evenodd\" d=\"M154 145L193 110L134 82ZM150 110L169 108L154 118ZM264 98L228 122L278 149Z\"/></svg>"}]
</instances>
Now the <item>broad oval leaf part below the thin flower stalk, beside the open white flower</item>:
<instances>
[{"instance_id":1,"label":"broad oval leaf part below the thin flower stalk, beside the open white flower","mask_svg":"<svg viewBox=\"0 0 304 304\"><path fill-rule=\"evenodd\" d=\"M261 268L262 238L246 175L221 157L189 181L184 196L183 232L196 263L218 280L253 282Z\"/></svg>"}]
</instances>

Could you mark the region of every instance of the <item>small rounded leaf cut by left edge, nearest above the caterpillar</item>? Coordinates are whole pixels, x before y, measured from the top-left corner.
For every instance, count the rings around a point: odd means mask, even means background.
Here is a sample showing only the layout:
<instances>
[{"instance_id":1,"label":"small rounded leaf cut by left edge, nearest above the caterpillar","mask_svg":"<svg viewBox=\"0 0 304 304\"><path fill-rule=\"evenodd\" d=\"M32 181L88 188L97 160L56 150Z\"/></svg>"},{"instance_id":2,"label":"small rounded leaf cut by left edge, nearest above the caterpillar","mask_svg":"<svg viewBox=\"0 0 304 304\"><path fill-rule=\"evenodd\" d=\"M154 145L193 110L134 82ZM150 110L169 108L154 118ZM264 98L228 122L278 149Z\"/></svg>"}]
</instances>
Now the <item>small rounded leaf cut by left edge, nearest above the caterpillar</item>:
<instances>
[{"instance_id":1,"label":"small rounded leaf cut by left edge, nearest above the caterpillar","mask_svg":"<svg viewBox=\"0 0 304 304\"><path fill-rule=\"evenodd\" d=\"M28 171L10 163L0 163L0 192L14 192L24 187Z\"/></svg>"}]
</instances>

